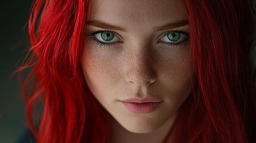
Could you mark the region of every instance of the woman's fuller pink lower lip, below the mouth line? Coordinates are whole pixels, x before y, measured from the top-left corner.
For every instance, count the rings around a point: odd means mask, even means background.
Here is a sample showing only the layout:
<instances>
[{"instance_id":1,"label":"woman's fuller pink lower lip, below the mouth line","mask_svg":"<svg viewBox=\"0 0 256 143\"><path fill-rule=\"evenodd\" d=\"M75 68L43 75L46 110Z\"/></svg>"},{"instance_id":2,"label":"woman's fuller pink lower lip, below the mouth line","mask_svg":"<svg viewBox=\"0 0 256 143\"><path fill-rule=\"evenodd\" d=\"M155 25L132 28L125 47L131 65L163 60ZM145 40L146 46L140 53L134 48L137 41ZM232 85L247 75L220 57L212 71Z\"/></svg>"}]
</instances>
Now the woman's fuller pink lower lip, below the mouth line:
<instances>
[{"instance_id":1,"label":"woman's fuller pink lower lip, below the mouth line","mask_svg":"<svg viewBox=\"0 0 256 143\"><path fill-rule=\"evenodd\" d=\"M145 102L145 103L136 103L136 102L122 102L125 107L132 113L147 114L152 113L160 107L162 102Z\"/></svg>"}]
</instances>

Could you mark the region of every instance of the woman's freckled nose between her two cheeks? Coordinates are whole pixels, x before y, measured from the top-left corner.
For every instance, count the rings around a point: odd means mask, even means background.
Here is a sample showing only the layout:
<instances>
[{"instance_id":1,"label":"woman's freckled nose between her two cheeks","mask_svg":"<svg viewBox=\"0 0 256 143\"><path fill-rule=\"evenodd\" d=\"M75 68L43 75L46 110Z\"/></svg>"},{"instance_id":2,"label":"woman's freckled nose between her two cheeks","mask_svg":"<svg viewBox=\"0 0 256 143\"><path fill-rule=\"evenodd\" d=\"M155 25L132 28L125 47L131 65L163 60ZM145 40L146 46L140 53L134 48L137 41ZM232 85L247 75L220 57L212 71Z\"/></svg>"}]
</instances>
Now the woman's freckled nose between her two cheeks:
<instances>
[{"instance_id":1,"label":"woman's freckled nose between her two cheeks","mask_svg":"<svg viewBox=\"0 0 256 143\"><path fill-rule=\"evenodd\" d=\"M149 48L132 48L125 60L126 77L128 83L135 85L150 85L156 81L153 52Z\"/></svg>"}]
</instances>

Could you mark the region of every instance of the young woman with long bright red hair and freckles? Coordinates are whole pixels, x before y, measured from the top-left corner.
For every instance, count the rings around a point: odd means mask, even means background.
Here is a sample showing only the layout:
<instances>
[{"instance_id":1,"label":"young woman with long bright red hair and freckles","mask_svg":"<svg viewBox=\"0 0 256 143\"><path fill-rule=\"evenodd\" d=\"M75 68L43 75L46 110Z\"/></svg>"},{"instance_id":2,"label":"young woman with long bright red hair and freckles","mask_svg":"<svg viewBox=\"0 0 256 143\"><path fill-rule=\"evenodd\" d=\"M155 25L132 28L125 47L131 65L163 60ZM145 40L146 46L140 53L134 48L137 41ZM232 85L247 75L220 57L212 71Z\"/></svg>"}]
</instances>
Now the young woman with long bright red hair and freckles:
<instances>
[{"instance_id":1,"label":"young woman with long bright red hair and freckles","mask_svg":"<svg viewBox=\"0 0 256 143\"><path fill-rule=\"evenodd\" d=\"M255 142L254 28L244 0L35 1L29 126L38 142Z\"/></svg>"}]
</instances>

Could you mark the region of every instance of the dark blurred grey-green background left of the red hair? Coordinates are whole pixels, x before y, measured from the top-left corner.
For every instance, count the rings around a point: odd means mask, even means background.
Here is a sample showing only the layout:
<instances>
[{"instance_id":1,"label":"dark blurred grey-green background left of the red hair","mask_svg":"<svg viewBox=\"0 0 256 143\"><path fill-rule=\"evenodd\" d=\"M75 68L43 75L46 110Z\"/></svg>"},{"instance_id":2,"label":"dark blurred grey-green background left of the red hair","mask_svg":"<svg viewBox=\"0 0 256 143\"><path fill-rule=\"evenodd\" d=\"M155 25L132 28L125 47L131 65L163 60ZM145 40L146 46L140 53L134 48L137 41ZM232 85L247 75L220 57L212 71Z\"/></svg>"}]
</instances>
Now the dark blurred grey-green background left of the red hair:
<instances>
[{"instance_id":1,"label":"dark blurred grey-green background left of the red hair","mask_svg":"<svg viewBox=\"0 0 256 143\"><path fill-rule=\"evenodd\" d=\"M0 5L0 143L16 142L27 127L21 86L17 74L10 76L29 47L26 23L31 4L32 0L12 0Z\"/></svg>"}]
</instances>

